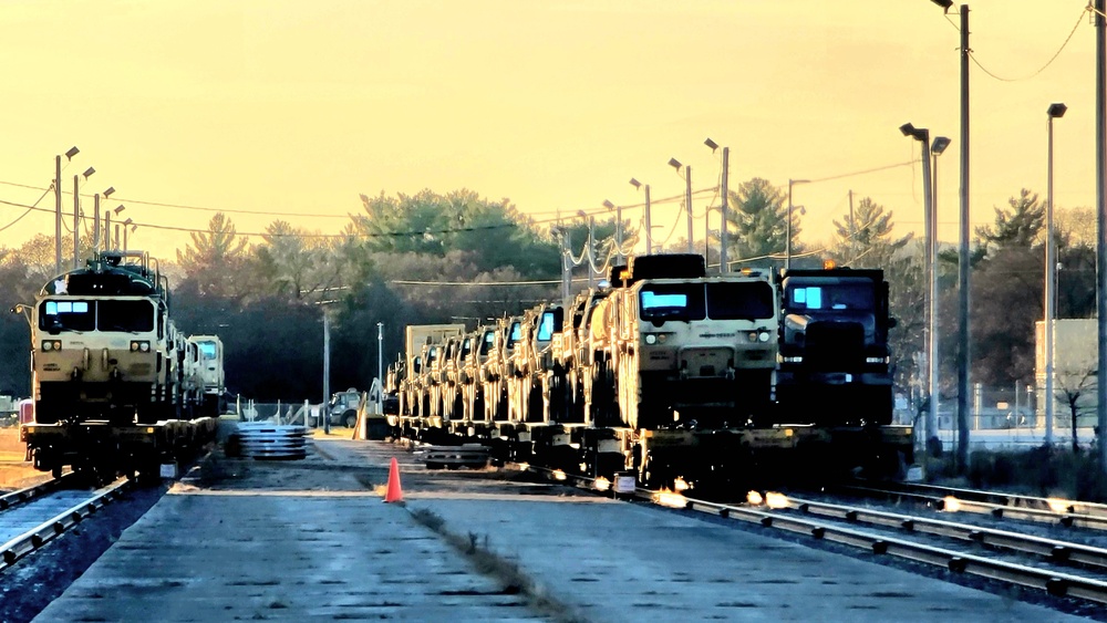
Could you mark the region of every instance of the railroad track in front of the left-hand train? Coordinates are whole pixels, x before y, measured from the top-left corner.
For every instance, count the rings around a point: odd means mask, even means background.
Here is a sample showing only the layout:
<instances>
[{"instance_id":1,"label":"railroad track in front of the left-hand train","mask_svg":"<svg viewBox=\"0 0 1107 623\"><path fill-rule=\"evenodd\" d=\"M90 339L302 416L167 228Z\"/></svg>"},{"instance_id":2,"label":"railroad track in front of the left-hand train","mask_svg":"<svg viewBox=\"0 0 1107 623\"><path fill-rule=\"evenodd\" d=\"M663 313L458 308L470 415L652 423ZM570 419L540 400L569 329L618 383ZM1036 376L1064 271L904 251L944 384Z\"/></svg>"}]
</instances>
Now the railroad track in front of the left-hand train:
<instances>
[{"instance_id":1,"label":"railroad track in front of the left-hand train","mask_svg":"<svg viewBox=\"0 0 1107 623\"><path fill-rule=\"evenodd\" d=\"M0 572L118 499L133 486L132 481L121 478L89 492L60 488L65 479L62 477L3 496L8 505L0 512Z\"/></svg>"}]
</instances>

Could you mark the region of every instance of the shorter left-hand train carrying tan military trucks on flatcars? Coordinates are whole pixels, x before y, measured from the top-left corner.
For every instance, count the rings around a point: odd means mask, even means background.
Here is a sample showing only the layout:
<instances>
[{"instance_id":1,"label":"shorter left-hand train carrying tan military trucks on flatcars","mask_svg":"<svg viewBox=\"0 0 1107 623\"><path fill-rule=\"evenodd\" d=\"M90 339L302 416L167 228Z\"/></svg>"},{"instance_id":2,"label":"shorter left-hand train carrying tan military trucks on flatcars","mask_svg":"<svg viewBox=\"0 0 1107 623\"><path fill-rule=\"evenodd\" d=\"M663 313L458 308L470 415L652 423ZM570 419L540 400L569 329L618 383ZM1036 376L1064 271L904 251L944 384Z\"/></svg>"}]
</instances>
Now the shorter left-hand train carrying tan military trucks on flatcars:
<instances>
[{"instance_id":1,"label":"shorter left-hand train carrying tan military trucks on flatcars","mask_svg":"<svg viewBox=\"0 0 1107 623\"><path fill-rule=\"evenodd\" d=\"M153 477L206 443L223 394L218 336L170 318L168 280L144 251L97 251L40 290L31 320L28 459L96 480Z\"/></svg>"}]
</instances>

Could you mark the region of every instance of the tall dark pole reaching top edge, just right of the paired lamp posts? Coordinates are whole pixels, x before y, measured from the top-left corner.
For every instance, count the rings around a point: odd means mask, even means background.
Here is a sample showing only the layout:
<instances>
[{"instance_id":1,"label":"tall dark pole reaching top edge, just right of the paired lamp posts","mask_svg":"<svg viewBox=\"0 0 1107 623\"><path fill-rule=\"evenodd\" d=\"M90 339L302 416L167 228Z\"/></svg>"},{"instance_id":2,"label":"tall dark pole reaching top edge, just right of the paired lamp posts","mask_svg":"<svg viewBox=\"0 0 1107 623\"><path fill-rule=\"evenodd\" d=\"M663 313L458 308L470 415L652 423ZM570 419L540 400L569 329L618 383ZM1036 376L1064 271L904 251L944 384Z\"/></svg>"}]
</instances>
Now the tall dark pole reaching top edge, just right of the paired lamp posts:
<instances>
[{"instance_id":1,"label":"tall dark pole reaching top edge, just right of the paired lamp posts","mask_svg":"<svg viewBox=\"0 0 1107 623\"><path fill-rule=\"evenodd\" d=\"M1100 0L1103 1L1103 0ZM958 465L969 466L969 4L961 4L961 236L958 246ZM938 219L934 219L938 225ZM934 232L937 236L937 231ZM933 311L931 312L933 313ZM937 338L937 336L935 336Z\"/></svg>"}]
</instances>

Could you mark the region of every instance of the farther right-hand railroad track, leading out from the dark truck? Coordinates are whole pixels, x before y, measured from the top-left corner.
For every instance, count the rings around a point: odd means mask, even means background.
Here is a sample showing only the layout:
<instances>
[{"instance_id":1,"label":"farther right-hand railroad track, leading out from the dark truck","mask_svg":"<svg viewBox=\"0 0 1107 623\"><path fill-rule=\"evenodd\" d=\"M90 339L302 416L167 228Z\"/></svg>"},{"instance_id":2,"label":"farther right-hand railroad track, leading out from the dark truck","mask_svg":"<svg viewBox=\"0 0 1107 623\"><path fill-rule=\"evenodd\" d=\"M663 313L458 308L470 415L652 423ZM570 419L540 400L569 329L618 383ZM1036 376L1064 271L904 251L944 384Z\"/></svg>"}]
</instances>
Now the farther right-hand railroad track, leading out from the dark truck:
<instances>
[{"instance_id":1,"label":"farther right-hand railroad track, leading out from the dark truck","mask_svg":"<svg viewBox=\"0 0 1107 623\"><path fill-rule=\"evenodd\" d=\"M1107 530L1107 505L1100 503L903 482L842 485L832 490L841 494L910 500L939 510L989 515L996 519Z\"/></svg>"}]
</instances>

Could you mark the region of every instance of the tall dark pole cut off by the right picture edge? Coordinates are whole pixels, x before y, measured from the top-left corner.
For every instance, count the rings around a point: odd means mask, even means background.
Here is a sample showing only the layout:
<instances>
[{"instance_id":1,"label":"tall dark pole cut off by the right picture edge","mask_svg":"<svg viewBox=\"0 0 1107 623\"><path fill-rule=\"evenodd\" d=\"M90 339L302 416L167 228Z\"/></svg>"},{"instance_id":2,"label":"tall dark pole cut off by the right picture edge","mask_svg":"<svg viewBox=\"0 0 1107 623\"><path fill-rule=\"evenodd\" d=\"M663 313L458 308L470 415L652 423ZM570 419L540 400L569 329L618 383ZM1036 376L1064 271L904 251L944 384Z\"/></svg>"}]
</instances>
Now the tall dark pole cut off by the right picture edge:
<instances>
[{"instance_id":1,"label":"tall dark pole cut off by the right picture edge","mask_svg":"<svg viewBox=\"0 0 1107 623\"><path fill-rule=\"evenodd\" d=\"M1107 474L1107 179L1104 177L1105 97L1104 56L1107 55L1105 35L1105 0L1096 1L1096 324L1099 333L1099 365L1096 366L1096 419L1099 424L1099 471Z\"/></svg>"}]
</instances>

